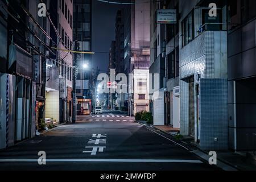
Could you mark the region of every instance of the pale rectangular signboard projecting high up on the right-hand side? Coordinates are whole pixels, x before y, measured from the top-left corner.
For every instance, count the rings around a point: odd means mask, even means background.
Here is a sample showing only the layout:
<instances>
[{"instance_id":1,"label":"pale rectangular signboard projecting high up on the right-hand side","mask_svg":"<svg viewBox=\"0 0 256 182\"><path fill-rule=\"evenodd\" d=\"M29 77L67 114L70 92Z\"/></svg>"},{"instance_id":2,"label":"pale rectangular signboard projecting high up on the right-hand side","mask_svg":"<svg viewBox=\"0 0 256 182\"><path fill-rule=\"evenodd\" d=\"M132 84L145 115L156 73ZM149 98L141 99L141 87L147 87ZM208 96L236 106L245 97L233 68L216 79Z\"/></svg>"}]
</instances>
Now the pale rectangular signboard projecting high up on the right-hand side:
<instances>
[{"instance_id":1,"label":"pale rectangular signboard projecting high up on the right-hand side","mask_svg":"<svg viewBox=\"0 0 256 182\"><path fill-rule=\"evenodd\" d=\"M161 24L174 24L177 22L176 10L157 10L156 22Z\"/></svg>"}]
</instances>

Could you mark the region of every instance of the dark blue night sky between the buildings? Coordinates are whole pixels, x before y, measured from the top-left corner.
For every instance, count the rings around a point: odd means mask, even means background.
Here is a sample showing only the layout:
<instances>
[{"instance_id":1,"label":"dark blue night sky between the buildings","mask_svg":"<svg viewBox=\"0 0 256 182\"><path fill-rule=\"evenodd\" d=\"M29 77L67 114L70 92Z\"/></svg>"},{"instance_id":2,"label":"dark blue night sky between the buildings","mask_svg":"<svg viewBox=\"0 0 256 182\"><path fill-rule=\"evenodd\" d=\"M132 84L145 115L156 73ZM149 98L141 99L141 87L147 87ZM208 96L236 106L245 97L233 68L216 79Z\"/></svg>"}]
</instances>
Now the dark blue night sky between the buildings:
<instances>
[{"instance_id":1,"label":"dark blue night sky between the buildings","mask_svg":"<svg viewBox=\"0 0 256 182\"><path fill-rule=\"evenodd\" d=\"M92 0L92 51L109 52L115 40L115 14L123 5L114 5ZM96 53L92 57L92 67L108 71L109 53Z\"/></svg>"}]
</instances>

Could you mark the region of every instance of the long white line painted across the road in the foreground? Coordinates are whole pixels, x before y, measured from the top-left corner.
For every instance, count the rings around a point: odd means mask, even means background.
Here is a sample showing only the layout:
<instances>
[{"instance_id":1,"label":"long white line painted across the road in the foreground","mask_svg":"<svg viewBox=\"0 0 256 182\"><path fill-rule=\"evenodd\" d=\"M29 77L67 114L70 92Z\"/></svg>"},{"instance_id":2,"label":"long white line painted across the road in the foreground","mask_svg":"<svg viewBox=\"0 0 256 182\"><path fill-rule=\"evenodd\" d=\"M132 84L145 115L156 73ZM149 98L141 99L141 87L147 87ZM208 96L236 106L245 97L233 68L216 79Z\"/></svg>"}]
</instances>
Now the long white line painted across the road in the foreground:
<instances>
[{"instance_id":1,"label":"long white line painted across the road in the foreground","mask_svg":"<svg viewBox=\"0 0 256 182\"><path fill-rule=\"evenodd\" d=\"M38 162L38 159L0 159L0 163ZM201 160L182 159L46 159L46 162L112 162L112 163L203 163Z\"/></svg>"}]
</instances>

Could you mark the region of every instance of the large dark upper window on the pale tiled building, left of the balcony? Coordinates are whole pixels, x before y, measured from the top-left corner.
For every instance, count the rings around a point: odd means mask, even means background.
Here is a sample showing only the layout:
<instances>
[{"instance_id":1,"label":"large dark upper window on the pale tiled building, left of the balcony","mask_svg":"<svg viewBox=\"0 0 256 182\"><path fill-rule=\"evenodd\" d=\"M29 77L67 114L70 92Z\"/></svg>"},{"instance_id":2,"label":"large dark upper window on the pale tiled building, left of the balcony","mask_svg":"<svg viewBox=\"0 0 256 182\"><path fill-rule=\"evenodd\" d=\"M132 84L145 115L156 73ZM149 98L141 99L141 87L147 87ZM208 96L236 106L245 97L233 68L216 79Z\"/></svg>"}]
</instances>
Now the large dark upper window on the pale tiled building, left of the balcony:
<instances>
[{"instance_id":1,"label":"large dark upper window on the pale tiled building, left of the balcony","mask_svg":"<svg viewBox=\"0 0 256 182\"><path fill-rule=\"evenodd\" d=\"M183 46L186 46L194 38L193 11L182 21Z\"/></svg>"}]
</instances>

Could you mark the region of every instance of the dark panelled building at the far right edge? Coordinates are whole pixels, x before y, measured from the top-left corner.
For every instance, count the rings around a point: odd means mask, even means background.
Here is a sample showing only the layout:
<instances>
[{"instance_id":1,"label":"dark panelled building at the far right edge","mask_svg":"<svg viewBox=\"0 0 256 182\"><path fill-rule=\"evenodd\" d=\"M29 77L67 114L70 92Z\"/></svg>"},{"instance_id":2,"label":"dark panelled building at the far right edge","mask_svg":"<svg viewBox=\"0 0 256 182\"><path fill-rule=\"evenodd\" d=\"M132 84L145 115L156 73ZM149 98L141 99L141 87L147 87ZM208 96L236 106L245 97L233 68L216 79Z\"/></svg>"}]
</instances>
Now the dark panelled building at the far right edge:
<instances>
[{"instance_id":1,"label":"dark panelled building at the far right edge","mask_svg":"<svg viewBox=\"0 0 256 182\"><path fill-rule=\"evenodd\" d=\"M256 1L228 3L229 148L256 149Z\"/></svg>"}]
</instances>

